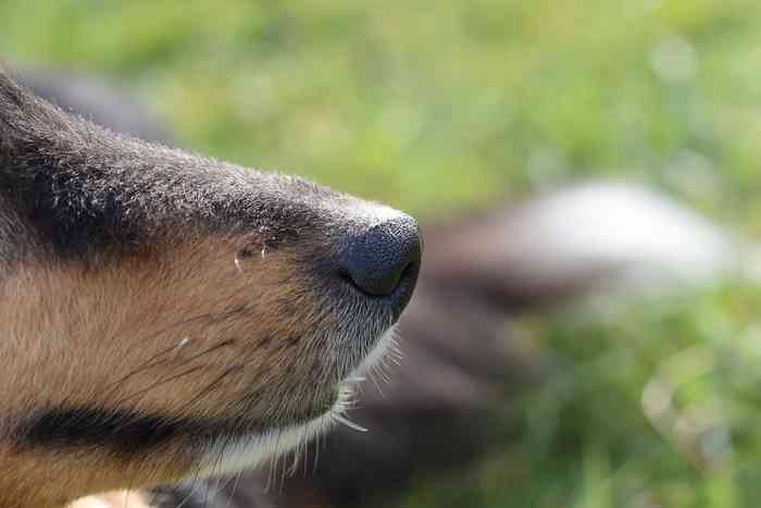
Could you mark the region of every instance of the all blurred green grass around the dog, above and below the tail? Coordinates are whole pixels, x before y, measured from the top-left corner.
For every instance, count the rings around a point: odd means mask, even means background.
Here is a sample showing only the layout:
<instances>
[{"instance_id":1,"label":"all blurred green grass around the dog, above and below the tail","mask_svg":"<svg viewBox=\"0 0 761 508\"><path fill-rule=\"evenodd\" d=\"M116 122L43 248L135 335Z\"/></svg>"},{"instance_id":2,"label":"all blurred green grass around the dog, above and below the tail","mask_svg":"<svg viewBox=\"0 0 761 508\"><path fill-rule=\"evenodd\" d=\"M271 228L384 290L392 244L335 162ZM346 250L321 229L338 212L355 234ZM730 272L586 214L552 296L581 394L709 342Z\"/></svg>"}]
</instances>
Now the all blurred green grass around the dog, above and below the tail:
<instances>
[{"instance_id":1,"label":"all blurred green grass around the dog, above and below the tail","mask_svg":"<svg viewBox=\"0 0 761 508\"><path fill-rule=\"evenodd\" d=\"M0 0L0 54L128 82L184 146L423 216L606 177L752 238L759 14L752 0ZM502 448L403 505L756 506L759 303L735 283L608 322L527 323L557 377L517 401Z\"/></svg>"}]
</instances>

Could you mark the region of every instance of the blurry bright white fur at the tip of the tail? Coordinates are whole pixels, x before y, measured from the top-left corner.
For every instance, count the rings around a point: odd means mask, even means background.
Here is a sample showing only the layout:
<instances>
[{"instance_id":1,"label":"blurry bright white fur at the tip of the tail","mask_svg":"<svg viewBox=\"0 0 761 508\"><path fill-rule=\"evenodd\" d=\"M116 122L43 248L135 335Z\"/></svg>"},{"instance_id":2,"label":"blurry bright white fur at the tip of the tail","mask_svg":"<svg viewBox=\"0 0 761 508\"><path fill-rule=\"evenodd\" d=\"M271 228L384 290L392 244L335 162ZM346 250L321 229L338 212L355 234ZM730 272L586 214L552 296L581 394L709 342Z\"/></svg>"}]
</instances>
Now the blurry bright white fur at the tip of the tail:
<instances>
[{"instance_id":1,"label":"blurry bright white fur at the tip of the tail","mask_svg":"<svg viewBox=\"0 0 761 508\"><path fill-rule=\"evenodd\" d=\"M560 190L533 201L513 220L504 240L508 261L532 283L611 267L620 269L617 282L628 290L660 289L710 281L737 261L736 241L719 227L626 184Z\"/></svg>"}]
</instances>

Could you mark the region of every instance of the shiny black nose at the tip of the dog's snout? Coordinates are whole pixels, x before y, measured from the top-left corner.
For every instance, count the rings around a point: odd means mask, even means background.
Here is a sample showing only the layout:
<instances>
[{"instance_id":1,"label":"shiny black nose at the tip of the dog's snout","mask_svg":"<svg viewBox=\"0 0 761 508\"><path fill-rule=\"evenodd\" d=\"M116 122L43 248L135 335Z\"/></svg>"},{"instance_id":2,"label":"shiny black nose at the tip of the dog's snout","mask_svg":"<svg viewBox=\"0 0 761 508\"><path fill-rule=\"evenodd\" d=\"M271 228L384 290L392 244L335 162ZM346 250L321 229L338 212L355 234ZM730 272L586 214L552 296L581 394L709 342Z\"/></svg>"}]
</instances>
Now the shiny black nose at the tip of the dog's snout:
<instances>
[{"instance_id":1,"label":"shiny black nose at the tip of the dog's snout","mask_svg":"<svg viewBox=\"0 0 761 508\"><path fill-rule=\"evenodd\" d=\"M367 295L390 296L399 288L400 299L408 300L417 278L421 250L417 223L409 215L399 214L351 240L345 273Z\"/></svg>"}]
</instances>

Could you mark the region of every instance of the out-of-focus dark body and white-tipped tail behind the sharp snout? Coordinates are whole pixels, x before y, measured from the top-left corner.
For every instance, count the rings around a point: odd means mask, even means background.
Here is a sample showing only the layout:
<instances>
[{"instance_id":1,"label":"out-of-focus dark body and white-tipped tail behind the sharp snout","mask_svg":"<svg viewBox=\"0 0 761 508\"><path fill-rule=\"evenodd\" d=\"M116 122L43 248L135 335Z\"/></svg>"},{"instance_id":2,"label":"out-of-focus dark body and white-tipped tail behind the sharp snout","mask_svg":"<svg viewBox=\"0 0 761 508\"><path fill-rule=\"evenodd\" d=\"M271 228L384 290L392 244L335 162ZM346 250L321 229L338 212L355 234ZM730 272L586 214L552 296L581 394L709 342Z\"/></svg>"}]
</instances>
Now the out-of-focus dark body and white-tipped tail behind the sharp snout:
<instances>
[{"instance_id":1,"label":"out-of-focus dark body and white-tipped tail behind the sharp snout","mask_svg":"<svg viewBox=\"0 0 761 508\"><path fill-rule=\"evenodd\" d=\"M170 137L139 114L137 104L125 107L121 92L93 86L91 79L35 72L24 82L115 131L158 141ZM88 100L91 94L83 98L83 83L98 91L97 100ZM412 478L462 469L503 438L490 422L503 411L504 386L521 391L551 375L546 359L511 333L514 318L600 294L620 302L635 289L651 294L706 281L731 269L737 251L731 238L701 218L621 184L578 185L441 220L426 226L426 246L414 297L397 325L403 360L388 362L384 380L353 382L358 405L350 417L359 425L337 426L321 446L300 450L301 457L229 481L198 474L72 506L391 503ZM280 480L285 463L299 471ZM266 491L273 476L278 485Z\"/></svg>"}]
</instances>

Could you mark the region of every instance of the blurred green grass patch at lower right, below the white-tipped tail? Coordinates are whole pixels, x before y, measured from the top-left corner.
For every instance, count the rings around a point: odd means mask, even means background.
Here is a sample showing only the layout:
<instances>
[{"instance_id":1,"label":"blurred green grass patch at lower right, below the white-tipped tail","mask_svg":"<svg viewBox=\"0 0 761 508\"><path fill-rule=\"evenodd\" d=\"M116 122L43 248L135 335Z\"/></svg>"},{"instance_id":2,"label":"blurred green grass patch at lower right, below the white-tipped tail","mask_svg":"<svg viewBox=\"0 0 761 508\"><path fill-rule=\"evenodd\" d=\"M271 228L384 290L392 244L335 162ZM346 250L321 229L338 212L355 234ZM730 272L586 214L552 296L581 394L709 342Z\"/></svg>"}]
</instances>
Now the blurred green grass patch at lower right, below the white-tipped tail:
<instances>
[{"instance_id":1,"label":"blurred green grass patch at lower right, below the white-tipped tail","mask_svg":"<svg viewBox=\"0 0 761 508\"><path fill-rule=\"evenodd\" d=\"M761 290L531 324L558 368L475 470L404 508L740 508L761 498Z\"/></svg>"}]
</instances>

